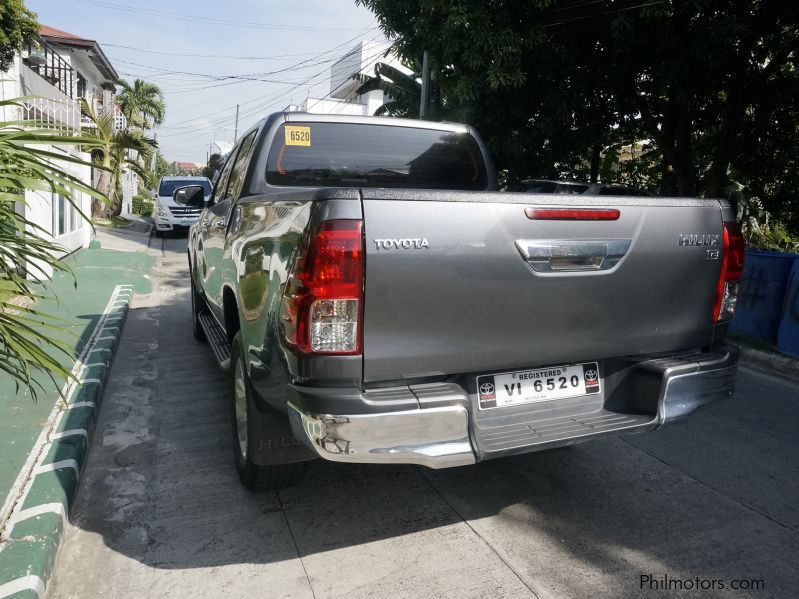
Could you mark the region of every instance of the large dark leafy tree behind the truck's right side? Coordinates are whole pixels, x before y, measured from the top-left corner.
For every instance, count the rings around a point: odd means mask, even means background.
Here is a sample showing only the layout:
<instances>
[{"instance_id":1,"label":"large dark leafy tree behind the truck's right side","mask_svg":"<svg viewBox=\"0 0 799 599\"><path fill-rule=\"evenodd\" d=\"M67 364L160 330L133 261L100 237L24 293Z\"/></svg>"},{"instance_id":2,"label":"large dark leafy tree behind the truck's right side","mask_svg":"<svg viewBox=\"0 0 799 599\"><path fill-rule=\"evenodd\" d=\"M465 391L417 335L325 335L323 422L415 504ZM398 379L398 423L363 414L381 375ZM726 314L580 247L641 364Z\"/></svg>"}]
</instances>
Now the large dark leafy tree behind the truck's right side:
<instances>
[{"instance_id":1,"label":"large dark leafy tree behind the truck's right side","mask_svg":"<svg viewBox=\"0 0 799 599\"><path fill-rule=\"evenodd\" d=\"M664 193L724 195L734 170L799 208L799 3L356 1L401 58L444 65L442 94L511 179L596 175L608 149L650 140Z\"/></svg>"}]
</instances>

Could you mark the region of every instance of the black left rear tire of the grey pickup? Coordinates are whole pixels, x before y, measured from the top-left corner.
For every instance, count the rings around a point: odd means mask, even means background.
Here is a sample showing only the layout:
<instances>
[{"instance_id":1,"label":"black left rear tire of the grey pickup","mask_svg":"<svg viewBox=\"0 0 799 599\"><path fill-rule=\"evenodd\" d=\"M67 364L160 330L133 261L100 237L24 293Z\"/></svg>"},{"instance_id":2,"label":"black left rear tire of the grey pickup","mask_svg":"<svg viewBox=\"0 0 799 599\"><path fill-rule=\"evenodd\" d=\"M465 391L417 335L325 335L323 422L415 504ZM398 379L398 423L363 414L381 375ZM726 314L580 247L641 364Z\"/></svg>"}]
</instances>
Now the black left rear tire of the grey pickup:
<instances>
[{"instance_id":1,"label":"black left rear tire of the grey pickup","mask_svg":"<svg viewBox=\"0 0 799 599\"><path fill-rule=\"evenodd\" d=\"M241 333L236 333L230 357L230 372L233 387L233 453L236 470L241 483L253 491L272 491L290 487L303 477L307 462L271 464L261 466L250 459L250 448L257 438L252 430L249 414L258 408L254 405L254 391L244 364ZM241 433L244 433L243 435Z\"/></svg>"}]
</instances>

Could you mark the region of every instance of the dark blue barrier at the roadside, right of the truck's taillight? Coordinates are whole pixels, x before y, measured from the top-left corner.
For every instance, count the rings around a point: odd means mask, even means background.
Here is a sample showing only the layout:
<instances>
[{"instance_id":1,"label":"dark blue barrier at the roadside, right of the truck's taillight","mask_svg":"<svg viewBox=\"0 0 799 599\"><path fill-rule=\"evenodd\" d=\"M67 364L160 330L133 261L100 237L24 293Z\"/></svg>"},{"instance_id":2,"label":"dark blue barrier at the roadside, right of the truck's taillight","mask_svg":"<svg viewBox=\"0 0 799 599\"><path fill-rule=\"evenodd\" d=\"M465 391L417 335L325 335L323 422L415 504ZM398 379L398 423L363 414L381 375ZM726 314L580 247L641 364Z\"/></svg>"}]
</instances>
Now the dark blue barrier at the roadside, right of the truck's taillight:
<instances>
[{"instance_id":1,"label":"dark blue barrier at the roadside, right of the truck's taillight","mask_svg":"<svg viewBox=\"0 0 799 599\"><path fill-rule=\"evenodd\" d=\"M731 330L799 356L799 255L746 252Z\"/></svg>"}]
</instances>

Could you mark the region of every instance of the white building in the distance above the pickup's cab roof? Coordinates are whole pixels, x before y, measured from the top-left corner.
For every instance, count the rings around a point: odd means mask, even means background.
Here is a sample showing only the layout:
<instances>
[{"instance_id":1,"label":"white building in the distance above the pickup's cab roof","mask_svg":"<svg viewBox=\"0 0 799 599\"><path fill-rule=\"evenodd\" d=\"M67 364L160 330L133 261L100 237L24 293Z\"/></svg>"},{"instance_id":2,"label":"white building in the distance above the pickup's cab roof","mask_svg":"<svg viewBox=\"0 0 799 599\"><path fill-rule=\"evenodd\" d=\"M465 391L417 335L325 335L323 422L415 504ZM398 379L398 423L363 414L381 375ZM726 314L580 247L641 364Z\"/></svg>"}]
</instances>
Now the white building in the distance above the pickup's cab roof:
<instances>
[{"instance_id":1,"label":"white building in the distance above the pickup's cab roof","mask_svg":"<svg viewBox=\"0 0 799 599\"><path fill-rule=\"evenodd\" d=\"M375 65L382 62L410 73L393 54L387 54L388 42L361 41L352 50L330 67L330 92L323 98L307 98L299 106L288 106L286 110L299 110L317 114L347 114L371 116L386 101L381 90L360 95L360 83L353 75L375 76Z\"/></svg>"}]
</instances>

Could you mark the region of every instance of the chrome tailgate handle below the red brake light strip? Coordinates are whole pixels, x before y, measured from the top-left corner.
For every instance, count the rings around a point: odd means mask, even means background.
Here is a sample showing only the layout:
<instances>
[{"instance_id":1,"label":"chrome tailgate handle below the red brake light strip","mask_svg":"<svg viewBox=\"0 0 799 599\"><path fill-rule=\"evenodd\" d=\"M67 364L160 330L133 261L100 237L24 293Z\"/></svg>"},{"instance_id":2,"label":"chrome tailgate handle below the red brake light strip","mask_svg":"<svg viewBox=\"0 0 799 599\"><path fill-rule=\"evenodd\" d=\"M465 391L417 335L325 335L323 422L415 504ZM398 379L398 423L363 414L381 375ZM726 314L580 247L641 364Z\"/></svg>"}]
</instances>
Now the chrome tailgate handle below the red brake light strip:
<instances>
[{"instance_id":1,"label":"chrome tailgate handle below the red brake light strip","mask_svg":"<svg viewBox=\"0 0 799 599\"><path fill-rule=\"evenodd\" d=\"M516 247L536 272L592 272L616 266L631 243L630 239L519 239Z\"/></svg>"}]
</instances>

